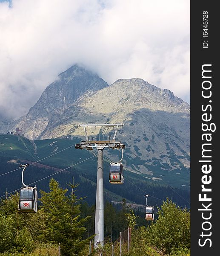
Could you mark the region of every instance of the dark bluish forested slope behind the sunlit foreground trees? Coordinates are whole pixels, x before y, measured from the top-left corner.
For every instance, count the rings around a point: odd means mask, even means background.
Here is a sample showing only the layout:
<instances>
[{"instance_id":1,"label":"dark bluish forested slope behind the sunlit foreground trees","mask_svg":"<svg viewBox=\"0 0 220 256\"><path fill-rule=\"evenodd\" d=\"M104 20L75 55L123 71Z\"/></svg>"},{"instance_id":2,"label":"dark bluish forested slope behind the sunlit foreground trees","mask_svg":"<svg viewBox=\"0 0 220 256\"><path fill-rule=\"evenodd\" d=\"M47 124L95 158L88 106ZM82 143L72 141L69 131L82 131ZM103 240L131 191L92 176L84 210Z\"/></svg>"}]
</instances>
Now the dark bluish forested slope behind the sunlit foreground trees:
<instances>
[{"instance_id":1,"label":"dark bluish forested slope behind the sunlit foreground trees","mask_svg":"<svg viewBox=\"0 0 220 256\"><path fill-rule=\"evenodd\" d=\"M18 168L17 164L7 163L6 158L0 157L0 174L13 171ZM2 184L0 186L0 195L3 195L6 190L11 192L15 189L19 189L22 186L21 183L21 172L22 170L17 170L16 172L11 172L7 175L1 176ZM26 184L35 182L44 177L54 174L53 169L39 168L37 166L29 166L26 168L24 174L24 180ZM95 204L96 195L96 172L83 172L80 169L72 168L68 171L64 171L55 174L54 177L59 181L60 186L67 188L66 183L71 180L74 176L74 182L80 183L77 188L76 195L79 197L86 197L84 200L89 204L89 206ZM123 186L112 185L109 183L109 172L104 171L104 188L109 192L104 193L104 202L108 201L118 201L118 198L126 198L127 201L134 202L136 204L145 205L145 194L149 194L150 197L148 202L150 205L156 207L160 205L166 198L171 198L180 207L190 208L190 191L189 189L182 188L172 188L168 185L161 185L157 182L151 182L148 180L139 180L137 177L128 177L126 175L126 180ZM128 179L127 179L128 178ZM48 192L48 180L41 180L36 183L37 187ZM115 197L118 197L115 200Z\"/></svg>"}]
</instances>

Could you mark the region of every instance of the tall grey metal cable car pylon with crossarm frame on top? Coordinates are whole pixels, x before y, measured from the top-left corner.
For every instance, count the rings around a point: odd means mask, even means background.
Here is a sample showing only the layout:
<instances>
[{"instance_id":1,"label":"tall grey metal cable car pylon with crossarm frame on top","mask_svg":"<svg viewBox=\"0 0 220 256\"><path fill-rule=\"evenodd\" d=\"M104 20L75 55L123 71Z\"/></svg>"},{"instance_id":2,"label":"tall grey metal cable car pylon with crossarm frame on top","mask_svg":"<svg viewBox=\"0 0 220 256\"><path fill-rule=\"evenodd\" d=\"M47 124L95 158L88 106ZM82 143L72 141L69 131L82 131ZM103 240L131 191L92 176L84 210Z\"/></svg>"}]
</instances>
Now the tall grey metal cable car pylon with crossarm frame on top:
<instances>
[{"instance_id":1,"label":"tall grey metal cable car pylon with crossarm frame on top","mask_svg":"<svg viewBox=\"0 0 220 256\"><path fill-rule=\"evenodd\" d=\"M112 140L90 140L86 127L97 127L97 126L116 126L114 136ZM116 134L119 126L123 127L124 124L88 124L88 125L78 125L84 128L86 140L81 140L79 144L75 145L76 149L87 149L93 150L97 148L98 150L98 160L97 160L97 183L96 183L96 204L95 204L95 238L94 247L104 245L104 192L103 192L103 149L113 148L113 149L124 149L125 145L121 143L120 140L116 140Z\"/></svg>"}]
</instances>

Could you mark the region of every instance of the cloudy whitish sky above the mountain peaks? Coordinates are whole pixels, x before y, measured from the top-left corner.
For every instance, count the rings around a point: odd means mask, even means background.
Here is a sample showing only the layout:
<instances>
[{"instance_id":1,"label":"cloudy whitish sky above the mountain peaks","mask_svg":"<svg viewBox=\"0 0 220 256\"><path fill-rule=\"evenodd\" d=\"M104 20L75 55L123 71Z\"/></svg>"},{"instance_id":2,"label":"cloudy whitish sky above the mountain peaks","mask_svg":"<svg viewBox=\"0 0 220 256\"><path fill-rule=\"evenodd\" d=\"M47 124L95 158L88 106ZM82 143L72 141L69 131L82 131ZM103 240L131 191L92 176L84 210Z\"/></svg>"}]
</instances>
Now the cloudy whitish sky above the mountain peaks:
<instances>
[{"instance_id":1,"label":"cloudy whitish sky above the mountain peaks","mask_svg":"<svg viewBox=\"0 0 220 256\"><path fill-rule=\"evenodd\" d=\"M190 1L0 0L0 118L26 114L75 63L190 103Z\"/></svg>"}]
</instances>

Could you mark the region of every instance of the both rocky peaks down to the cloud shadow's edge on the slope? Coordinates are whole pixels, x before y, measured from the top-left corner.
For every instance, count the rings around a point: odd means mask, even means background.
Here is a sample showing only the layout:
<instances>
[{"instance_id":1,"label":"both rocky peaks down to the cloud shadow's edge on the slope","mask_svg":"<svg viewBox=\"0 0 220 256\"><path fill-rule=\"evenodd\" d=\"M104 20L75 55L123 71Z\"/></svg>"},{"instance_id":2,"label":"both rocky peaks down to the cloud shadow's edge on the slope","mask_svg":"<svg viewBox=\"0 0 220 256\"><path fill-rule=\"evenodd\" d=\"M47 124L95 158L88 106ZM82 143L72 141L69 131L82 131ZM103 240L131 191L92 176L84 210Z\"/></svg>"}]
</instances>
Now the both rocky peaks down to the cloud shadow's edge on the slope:
<instances>
[{"instance_id":1,"label":"both rocky peaks down to the cloud shadow's edge on the slope","mask_svg":"<svg viewBox=\"0 0 220 256\"><path fill-rule=\"evenodd\" d=\"M140 111L188 115L190 107L170 90L143 79L117 79L109 86L96 73L74 64L60 73L16 125L36 140L80 135L73 129L78 123L118 122L117 116L129 120Z\"/></svg>"}]
</instances>

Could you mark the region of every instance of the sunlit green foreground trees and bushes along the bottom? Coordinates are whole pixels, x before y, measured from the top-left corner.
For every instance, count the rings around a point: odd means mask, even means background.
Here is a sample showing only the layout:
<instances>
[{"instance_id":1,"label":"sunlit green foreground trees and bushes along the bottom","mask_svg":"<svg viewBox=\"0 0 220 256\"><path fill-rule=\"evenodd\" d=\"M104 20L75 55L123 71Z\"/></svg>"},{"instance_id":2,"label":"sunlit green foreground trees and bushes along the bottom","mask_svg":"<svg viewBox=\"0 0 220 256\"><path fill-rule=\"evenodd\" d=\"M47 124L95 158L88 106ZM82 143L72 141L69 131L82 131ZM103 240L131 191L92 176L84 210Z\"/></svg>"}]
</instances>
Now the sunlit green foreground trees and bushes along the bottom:
<instances>
[{"instance_id":1,"label":"sunlit green foreground trees and bushes along the bottom","mask_svg":"<svg viewBox=\"0 0 220 256\"><path fill-rule=\"evenodd\" d=\"M74 179L73 179L74 180ZM51 178L48 192L39 192L37 213L22 213L17 205L19 192L0 201L1 256L87 256L94 239L95 206L77 197L80 184L67 183L62 188ZM189 256L190 212L166 198L157 209L154 221L146 221L144 213L128 207L126 199L120 206L106 201L104 209L105 244L90 255L111 256ZM131 230L131 244L120 233Z\"/></svg>"}]
</instances>

